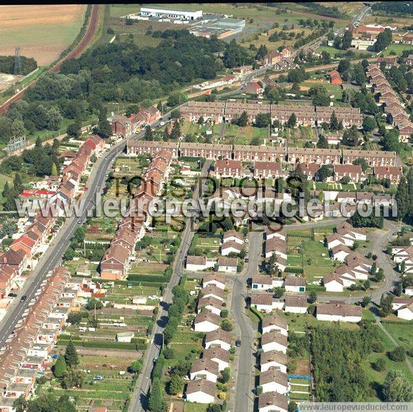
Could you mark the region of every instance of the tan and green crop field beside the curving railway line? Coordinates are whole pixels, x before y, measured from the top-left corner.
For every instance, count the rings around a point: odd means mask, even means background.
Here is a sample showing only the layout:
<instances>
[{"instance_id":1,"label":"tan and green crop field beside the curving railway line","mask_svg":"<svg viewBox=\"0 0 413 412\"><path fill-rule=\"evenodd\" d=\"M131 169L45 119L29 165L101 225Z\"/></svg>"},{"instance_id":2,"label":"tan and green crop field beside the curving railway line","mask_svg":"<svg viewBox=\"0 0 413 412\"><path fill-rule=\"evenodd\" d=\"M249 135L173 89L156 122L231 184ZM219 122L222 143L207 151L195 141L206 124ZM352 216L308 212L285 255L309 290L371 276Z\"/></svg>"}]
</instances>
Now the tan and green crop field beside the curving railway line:
<instances>
[{"instance_id":1,"label":"tan and green crop field beside the curving railway line","mask_svg":"<svg viewBox=\"0 0 413 412\"><path fill-rule=\"evenodd\" d=\"M0 55L33 57L48 65L69 46L83 24L85 5L0 6Z\"/></svg>"}]
</instances>

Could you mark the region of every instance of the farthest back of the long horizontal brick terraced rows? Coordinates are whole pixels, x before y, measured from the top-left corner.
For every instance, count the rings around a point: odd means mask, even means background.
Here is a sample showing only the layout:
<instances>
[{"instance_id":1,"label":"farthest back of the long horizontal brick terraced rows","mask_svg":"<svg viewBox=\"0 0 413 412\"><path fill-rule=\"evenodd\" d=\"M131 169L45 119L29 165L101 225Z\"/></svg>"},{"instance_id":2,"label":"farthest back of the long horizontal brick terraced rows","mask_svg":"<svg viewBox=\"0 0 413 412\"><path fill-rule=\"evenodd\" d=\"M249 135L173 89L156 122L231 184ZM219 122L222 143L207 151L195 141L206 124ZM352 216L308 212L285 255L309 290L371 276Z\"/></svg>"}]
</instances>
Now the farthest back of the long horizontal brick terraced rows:
<instances>
[{"instance_id":1,"label":"farthest back of the long horizontal brick terraced rows","mask_svg":"<svg viewBox=\"0 0 413 412\"><path fill-rule=\"evenodd\" d=\"M226 100L215 102L195 102L189 101L187 105L180 107L182 118L191 122L198 122L202 117L215 123L233 122L246 112L248 123L253 124L257 115L269 113L271 122L278 120L282 124L286 123L294 113L297 119L296 125L316 126L323 122L330 122L333 111L337 120L342 122L343 127L351 127L355 124L361 128L362 117L359 108L355 107L325 107L306 105L273 105L266 102L243 102L239 100Z\"/></svg>"}]
</instances>

